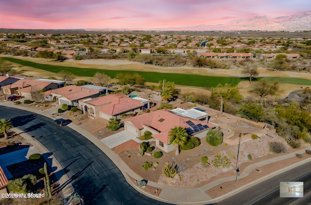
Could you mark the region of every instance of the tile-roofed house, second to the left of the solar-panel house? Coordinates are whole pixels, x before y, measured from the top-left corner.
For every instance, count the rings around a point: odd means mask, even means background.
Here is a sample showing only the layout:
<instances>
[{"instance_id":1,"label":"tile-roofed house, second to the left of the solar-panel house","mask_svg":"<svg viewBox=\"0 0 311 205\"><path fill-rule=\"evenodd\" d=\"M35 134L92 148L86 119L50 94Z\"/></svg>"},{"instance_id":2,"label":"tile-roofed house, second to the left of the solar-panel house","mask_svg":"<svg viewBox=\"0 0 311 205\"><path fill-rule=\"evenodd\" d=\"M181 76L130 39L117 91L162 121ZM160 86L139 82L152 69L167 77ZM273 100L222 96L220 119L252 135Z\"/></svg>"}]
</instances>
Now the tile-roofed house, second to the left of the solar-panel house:
<instances>
[{"instance_id":1,"label":"tile-roofed house, second to the left of the solar-panel house","mask_svg":"<svg viewBox=\"0 0 311 205\"><path fill-rule=\"evenodd\" d=\"M77 85L69 85L43 93L46 100L58 100L60 105L79 106L79 100L99 96L99 90Z\"/></svg>"}]
</instances>

